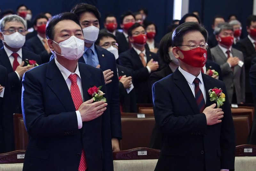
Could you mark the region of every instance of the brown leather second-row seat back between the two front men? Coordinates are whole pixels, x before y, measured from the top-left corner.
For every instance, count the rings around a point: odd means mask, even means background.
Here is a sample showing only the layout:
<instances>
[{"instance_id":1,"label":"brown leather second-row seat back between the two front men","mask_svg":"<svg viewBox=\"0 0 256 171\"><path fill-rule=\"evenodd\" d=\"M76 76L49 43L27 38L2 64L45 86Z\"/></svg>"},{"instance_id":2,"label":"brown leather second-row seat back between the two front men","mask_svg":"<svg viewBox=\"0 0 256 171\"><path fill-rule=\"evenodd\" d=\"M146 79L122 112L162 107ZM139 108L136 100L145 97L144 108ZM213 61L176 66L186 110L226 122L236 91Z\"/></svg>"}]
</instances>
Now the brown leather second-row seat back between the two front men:
<instances>
[{"instance_id":1,"label":"brown leather second-row seat back between the two front men","mask_svg":"<svg viewBox=\"0 0 256 171\"><path fill-rule=\"evenodd\" d=\"M155 125L153 113L121 113L121 124L123 138L120 141L120 150L149 147Z\"/></svg>"}]
</instances>

